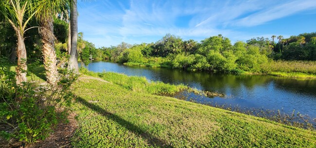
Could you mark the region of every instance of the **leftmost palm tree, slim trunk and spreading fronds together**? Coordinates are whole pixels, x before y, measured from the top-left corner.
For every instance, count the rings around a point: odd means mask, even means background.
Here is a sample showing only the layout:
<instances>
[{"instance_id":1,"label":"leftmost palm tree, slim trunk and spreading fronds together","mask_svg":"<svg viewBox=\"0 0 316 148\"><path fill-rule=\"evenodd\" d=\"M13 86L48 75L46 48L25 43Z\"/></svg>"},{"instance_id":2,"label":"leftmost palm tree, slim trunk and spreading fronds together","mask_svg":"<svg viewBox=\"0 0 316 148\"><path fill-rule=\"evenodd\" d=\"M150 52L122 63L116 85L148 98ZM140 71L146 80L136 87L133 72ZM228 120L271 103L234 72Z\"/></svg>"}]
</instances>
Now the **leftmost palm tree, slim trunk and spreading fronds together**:
<instances>
[{"instance_id":1,"label":"leftmost palm tree, slim trunk and spreading fronds together","mask_svg":"<svg viewBox=\"0 0 316 148\"><path fill-rule=\"evenodd\" d=\"M35 12L32 11L32 4L32 0L0 0L0 13L12 25L18 38L18 66L16 67L16 80L18 85L21 85L23 82L27 81L27 60L24 33L30 29L26 29L26 26L31 18L35 15Z\"/></svg>"}]
</instances>

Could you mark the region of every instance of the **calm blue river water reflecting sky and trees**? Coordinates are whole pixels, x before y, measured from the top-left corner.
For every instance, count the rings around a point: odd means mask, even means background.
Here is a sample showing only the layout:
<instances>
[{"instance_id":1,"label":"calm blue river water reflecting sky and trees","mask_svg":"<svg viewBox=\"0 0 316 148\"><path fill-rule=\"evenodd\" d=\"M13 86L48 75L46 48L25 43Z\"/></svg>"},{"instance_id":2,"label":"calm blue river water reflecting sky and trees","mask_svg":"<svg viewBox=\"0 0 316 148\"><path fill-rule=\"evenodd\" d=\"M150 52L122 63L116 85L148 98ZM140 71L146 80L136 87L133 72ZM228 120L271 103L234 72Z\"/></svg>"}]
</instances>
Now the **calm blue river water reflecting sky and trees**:
<instances>
[{"instance_id":1,"label":"calm blue river water reflecting sky and trees","mask_svg":"<svg viewBox=\"0 0 316 148\"><path fill-rule=\"evenodd\" d=\"M96 61L88 65L93 72L116 72L145 76L149 80L171 84L185 84L205 91L223 92L226 98L196 97L195 102L261 108L308 114L316 118L316 80L301 80L269 75L232 75L187 72L166 68L125 66L118 63Z\"/></svg>"}]
</instances>

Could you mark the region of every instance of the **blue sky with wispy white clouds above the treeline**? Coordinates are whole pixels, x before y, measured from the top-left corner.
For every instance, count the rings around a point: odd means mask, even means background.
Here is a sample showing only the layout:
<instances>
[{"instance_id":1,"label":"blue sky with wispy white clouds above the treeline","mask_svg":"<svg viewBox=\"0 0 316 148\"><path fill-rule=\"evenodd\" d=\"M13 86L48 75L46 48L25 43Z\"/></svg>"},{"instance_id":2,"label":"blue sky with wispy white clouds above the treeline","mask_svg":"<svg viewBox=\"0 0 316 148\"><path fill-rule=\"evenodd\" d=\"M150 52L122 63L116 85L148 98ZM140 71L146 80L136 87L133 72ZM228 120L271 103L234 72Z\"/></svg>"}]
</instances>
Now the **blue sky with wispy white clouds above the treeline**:
<instances>
[{"instance_id":1,"label":"blue sky with wispy white clouds above the treeline","mask_svg":"<svg viewBox=\"0 0 316 148\"><path fill-rule=\"evenodd\" d=\"M316 32L316 0L84 0L78 31L96 47L151 43L167 33L200 41Z\"/></svg>"}]
</instances>

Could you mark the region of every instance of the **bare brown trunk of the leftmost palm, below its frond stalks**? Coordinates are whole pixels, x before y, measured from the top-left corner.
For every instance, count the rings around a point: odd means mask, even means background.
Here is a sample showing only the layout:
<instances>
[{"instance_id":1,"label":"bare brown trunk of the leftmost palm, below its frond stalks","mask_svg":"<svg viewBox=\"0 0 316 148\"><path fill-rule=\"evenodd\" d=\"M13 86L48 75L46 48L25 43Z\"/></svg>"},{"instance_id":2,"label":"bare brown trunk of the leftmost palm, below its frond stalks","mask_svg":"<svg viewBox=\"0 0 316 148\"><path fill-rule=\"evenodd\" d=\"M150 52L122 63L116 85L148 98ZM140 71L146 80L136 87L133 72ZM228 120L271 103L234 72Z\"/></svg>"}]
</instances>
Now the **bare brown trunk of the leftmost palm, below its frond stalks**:
<instances>
[{"instance_id":1,"label":"bare brown trunk of the leftmost palm, below its frond stalks","mask_svg":"<svg viewBox=\"0 0 316 148\"><path fill-rule=\"evenodd\" d=\"M24 37L23 33L20 31L17 31L18 36L18 49L17 49L17 56L18 56L18 66L16 67L16 80L17 85L21 85L22 82L26 82L26 71L27 71L27 65L26 65L26 49L24 44Z\"/></svg>"}]
</instances>

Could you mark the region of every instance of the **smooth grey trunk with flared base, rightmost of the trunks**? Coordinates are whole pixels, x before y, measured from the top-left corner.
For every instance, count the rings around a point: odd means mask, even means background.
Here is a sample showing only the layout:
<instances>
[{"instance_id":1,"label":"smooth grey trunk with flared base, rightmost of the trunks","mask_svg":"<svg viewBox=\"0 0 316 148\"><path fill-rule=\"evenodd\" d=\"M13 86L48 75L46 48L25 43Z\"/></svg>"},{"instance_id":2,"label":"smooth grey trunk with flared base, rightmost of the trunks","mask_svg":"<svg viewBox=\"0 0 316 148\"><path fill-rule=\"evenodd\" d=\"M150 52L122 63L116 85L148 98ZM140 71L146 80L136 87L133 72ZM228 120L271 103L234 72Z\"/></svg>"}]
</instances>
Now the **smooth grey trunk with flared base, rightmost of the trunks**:
<instances>
[{"instance_id":1,"label":"smooth grey trunk with flared base, rightmost of the trunks","mask_svg":"<svg viewBox=\"0 0 316 148\"><path fill-rule=\"evenodd\" d=\"M77 53L77 41L78 41L78 14L77 14L77 0L72 0L70 24L71 24L71 50L69 58L69 68L74 73L79 73L78 67L78 53Z\"/></svg>"}]
</instances>

